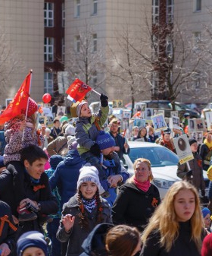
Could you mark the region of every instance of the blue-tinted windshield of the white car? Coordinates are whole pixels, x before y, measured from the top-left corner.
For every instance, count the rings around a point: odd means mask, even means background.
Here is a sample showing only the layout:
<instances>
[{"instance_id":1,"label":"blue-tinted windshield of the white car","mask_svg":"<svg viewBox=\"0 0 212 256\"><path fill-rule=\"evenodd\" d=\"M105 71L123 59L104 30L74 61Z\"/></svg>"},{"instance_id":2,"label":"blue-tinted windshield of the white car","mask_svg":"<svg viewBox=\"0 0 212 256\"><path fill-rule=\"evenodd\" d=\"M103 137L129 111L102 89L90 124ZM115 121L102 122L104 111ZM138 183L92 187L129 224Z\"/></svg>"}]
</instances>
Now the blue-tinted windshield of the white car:
<instances>
[{"instance_id":1,"label":"blue-tinted windshield of the white car","mask_svg":"<svg viewBox=\"0 0 212 256\"><path fill-rule=\"evenodd\" d=\"M166 147L134 147L130 149L129 158L132 163L138 158L145 158L152 167L176 166L179 158Z\"/></svg>"}]
</instances>

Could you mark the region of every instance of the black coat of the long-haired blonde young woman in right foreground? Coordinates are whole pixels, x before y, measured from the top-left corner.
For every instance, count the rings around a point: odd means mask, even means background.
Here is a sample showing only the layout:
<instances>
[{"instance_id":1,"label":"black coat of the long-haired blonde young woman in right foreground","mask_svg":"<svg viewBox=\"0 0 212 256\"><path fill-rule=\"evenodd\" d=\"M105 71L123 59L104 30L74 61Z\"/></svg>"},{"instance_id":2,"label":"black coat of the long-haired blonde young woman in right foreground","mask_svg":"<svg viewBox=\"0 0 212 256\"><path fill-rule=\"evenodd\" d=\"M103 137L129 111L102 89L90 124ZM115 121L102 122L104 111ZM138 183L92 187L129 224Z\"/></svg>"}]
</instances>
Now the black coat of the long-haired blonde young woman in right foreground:
<instances>
[{"instance_id":1,"label":"black coat of the long-haired blonde young woman in right foreground","mask_svg":"<svg viewBox=\"0 0 212 256\"><path fill-rule=\"evenodd\" d=\"M163 214L163 213L161 213ZM145 245L142 248L140 256L201 256L192 240L192 226L190 222L179 223L179 235L169 252L160 246L161 235L158 230L152 232ZM202 232L202 240L206 235L205 230Z\"/></svg>"}]
</instances>

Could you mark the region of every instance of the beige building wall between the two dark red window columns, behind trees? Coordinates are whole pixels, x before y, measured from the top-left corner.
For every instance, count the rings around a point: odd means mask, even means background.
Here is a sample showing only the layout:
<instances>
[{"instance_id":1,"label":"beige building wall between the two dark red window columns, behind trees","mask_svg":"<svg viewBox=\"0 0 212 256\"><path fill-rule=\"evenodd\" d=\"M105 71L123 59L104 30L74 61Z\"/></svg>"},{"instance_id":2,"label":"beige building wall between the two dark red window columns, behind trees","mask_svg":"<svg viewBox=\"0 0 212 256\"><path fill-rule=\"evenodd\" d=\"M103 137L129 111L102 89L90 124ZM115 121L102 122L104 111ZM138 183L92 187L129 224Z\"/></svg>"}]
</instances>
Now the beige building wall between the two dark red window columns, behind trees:
<instances>
[{"instance_id":1,"label":"beige building wall between the two dark red window columns, behind trees","mask_svg":"<svg viewBox=\"0 0 212 256\"><path fill-rule=\"evenodd\" d=\"M66 6L66 27L65 27L65 44L66 53L74 36L79 34L79 30L83 29L85 24L91 24L98 36L98 49L104 52L104 62L108 65L108 60L111 58L110 48L114 49L117 55L123 54L120 47L117 46L117 36L123 32L126 25L129 26L131 33L134 36L141 36L141 27L145 24L145 14L151 21L151 1L145 0L107 0L98 1L98 14L92 16L92 1L81 0L80 17L74 17L75 1L67 1ZM135 36L135 37L136 37ZM67 60L66 60L67 61ZM106 71L102 74L105 78L104 84L98 91L106 91L110 100L121 99L124 103L129 102L129 91L123 93L121 87L127 87L127 84L122 84L116 78L111 77ZM141 87L146 85L141 83ZM150 94L150 90L148 90ZM141 93L142 98L142 93ZM96 99L98 100L98 98ZM147 100L142 98L142 100Z\"/></svg>"}]
</instances>

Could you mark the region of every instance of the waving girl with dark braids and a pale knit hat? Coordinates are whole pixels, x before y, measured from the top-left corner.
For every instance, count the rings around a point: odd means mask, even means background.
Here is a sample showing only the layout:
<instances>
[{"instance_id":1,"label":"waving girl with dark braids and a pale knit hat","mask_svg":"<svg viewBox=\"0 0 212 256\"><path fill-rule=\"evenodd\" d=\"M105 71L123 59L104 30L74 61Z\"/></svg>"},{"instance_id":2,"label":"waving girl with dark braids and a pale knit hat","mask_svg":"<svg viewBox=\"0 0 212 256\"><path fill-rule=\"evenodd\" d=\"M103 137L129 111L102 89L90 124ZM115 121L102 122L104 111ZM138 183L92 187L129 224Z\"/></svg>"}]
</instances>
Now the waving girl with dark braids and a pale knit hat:
<instances>
[{"instance_id":1,"label":"waving girl with dark braids and a pale knit hat","mask_svg":"<svg viewBox=\"0 0 212 256\"><path fill-rule=\"evenodd\" d=\"M68 242L66 255L83 252L84 239L98 223L111 223L111 207L99 196L100 182L95 166L83 166L77 182L77 193L64 204L57 232L60 242Z\"/></svg>"}]
</instances>

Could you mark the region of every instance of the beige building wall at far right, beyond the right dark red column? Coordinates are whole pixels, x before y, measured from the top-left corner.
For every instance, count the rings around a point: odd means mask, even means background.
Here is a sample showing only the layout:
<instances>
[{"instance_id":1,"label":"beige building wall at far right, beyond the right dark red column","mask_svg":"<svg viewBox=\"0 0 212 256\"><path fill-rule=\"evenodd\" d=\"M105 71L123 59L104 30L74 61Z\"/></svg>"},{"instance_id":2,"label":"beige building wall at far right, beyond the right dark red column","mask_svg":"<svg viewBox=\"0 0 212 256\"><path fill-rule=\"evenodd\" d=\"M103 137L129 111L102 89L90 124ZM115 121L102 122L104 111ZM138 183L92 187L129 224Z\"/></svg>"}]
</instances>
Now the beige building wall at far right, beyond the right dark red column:
<instances>
[{"instance_id":1,"label":"beige building wall at far right, beyond the right dark red column","mask_svg":"<svg viewBox=\"0 0 212 256\"><path fill-rule=\"evenodd\" d=\"M201 33L200 48L203 50L203 53L200 57L203 58L205 62L201 62L201 67L198 68L202 73L200 88L196 88L195 81L192 81L187 85L187 95L180 94L179 100L182 102L207 103L212 101L210 94L212 89L212 77L211 65L206 65L206 63L212 63L212 55L204 52L204 49L212 50L210 36L208 36L205 30L208 28L212 33L212 14L210 13L212 2L211 0L202 0L201 11L195 11L195 3L196 0L178 0L174 2L174 18L177 24L182 27L182 30L186 32L186 42L195 47L195 33ZM200 54L200 52L198 52L198 54ZM188 66L191 65L191 62L190 59L187 59ZM185 87L186 85L184 84L184 88Z\"/></svg>"}]
</instances>

